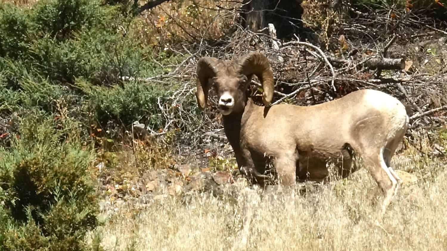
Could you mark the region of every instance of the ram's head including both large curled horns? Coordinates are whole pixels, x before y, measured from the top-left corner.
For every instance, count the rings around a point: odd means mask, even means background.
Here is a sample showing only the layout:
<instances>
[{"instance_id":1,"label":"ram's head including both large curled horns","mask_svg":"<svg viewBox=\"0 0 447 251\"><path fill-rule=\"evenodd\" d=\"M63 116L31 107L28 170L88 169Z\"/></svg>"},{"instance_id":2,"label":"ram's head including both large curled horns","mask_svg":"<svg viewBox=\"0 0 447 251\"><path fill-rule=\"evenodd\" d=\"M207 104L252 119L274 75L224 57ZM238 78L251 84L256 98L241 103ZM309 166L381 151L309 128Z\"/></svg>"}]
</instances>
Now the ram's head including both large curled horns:
<instances>
[{"instance_id":1,"label":"ram's head including both large curled horns","mask_svg":"<svg viewBox=\"0 0 447 251\"><path fill-rule=\"evenodd\" d=\"M203 57L197 63L198 107L204 109L208 92L214 85L219 96L219 110L223 115L240 113L246 104L246 90L252 76L262 83L262 102L270 105L273 98L273 71L269 60L259 52L250 52L234 61Z\"/></svg>"}]
</instances>

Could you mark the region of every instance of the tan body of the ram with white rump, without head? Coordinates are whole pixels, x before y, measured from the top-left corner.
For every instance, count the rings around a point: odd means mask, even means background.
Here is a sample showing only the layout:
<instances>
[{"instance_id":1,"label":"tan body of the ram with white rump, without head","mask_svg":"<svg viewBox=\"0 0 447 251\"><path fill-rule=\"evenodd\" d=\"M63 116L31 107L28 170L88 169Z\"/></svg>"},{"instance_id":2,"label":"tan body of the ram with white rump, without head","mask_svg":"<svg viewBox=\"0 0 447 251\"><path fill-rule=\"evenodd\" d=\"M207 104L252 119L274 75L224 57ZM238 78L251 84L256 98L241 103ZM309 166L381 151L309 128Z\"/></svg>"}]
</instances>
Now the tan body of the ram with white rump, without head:
<instances>
[{"instance_id":1,"label":"tan body of the ram with white rump, without head","mask_svg":"<svg viewBox=\"0 0 447 251\"><path fill-rule=\"evenodd\" d=\"M383 180L386 190L392 186L387 170L408 128L408 116L396 98L375 90L359 90L308 107L263 107L249 100L241 125L239 147L244 150L238 163L245 172L251 171L258 182L266 178L259 175L265 170L264 155L275 159L274 166L283 184L294 183L293 174L299 180L323 181L328 176L329 162L336 164L339 174L346 177L357 170L350 147L369 162L369 171ZM382 158L387 170L382 168Z\"/></svg>"}]
</instances>

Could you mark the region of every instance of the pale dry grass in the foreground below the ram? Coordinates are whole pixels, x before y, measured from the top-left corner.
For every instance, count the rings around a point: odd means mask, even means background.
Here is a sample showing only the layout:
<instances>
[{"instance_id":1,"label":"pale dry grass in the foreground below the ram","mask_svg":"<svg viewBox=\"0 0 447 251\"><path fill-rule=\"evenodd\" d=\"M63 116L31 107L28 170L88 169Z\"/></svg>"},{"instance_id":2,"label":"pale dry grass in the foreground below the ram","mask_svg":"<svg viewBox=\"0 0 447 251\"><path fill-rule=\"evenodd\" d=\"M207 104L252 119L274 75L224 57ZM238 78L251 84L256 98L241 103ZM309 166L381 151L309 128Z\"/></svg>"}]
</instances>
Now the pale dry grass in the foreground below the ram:
<instances>
[{"instance_id":1,"label":"pale dry grass in the foreground below the ram","mask_svg":"<svg viewBox=\"0 0 447 251\"><path fill-rule=\"evenodd\" d=\"M418 180L402 185L378 221L380 192L362 168L295 195L239 183L217 196L168 196L122 209L95 233L106 250L444 250L445 162L414 149L393 161Z\"/></svg>"}]
</instances>

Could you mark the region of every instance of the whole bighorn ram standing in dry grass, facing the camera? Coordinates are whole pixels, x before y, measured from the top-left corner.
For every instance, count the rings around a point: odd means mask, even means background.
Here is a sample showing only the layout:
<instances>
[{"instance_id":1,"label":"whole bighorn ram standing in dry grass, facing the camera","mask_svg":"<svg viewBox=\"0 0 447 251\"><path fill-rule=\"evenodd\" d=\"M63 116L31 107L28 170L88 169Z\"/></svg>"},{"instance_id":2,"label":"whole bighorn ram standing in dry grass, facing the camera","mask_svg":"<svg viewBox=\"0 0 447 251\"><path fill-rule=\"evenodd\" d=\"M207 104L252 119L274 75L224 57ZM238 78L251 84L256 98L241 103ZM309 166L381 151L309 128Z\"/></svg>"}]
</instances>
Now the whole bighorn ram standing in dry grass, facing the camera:
<instances>
[{"instance_id":1,"label":"whole bighorn ram standing in dry grass, facing the camera","mask_svg":"<svg viewBox=\"0 0 447 251\"><path fill-rule=\"evenodd\" d=\"M262 83L262 101L256 105L247 93L252 76ZM364 89L308 107L268 106L273 98L273 71L266 56L251 52L234 61L203 57L197 64L198 107L204 109L215 86L225 134L240 171L253 183L269 182L264 174L267 158L280 184L295 180L324 181L327 163L342 177L355 172L353 155L365 166L384 192L386 209L400 180L390 161L408 128L404 105L380 91Z\"/></svg>"}]
</instances>

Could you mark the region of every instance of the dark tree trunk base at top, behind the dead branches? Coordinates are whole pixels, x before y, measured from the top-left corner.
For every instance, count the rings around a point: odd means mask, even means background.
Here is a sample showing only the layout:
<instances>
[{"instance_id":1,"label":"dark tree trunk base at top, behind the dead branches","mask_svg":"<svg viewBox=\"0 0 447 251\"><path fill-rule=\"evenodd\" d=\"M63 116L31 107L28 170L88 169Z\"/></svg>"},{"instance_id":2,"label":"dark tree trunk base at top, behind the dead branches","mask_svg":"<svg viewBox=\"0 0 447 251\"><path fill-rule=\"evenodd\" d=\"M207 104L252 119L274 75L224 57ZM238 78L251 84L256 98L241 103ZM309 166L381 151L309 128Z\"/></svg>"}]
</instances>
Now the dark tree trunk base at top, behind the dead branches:
<instances>
[{"instance_id":1,"label":"dark tree trunk base at top, behind the dead branches","mask_svg":"<svg viewBox=\"0 0 447 251\"><path fill-rule=\"evenodd\" d=\"M272 23L278 38L291 37L301 27L301 0L244 0L242 25L253 32Z\"/></svg>"}]
</instances>

